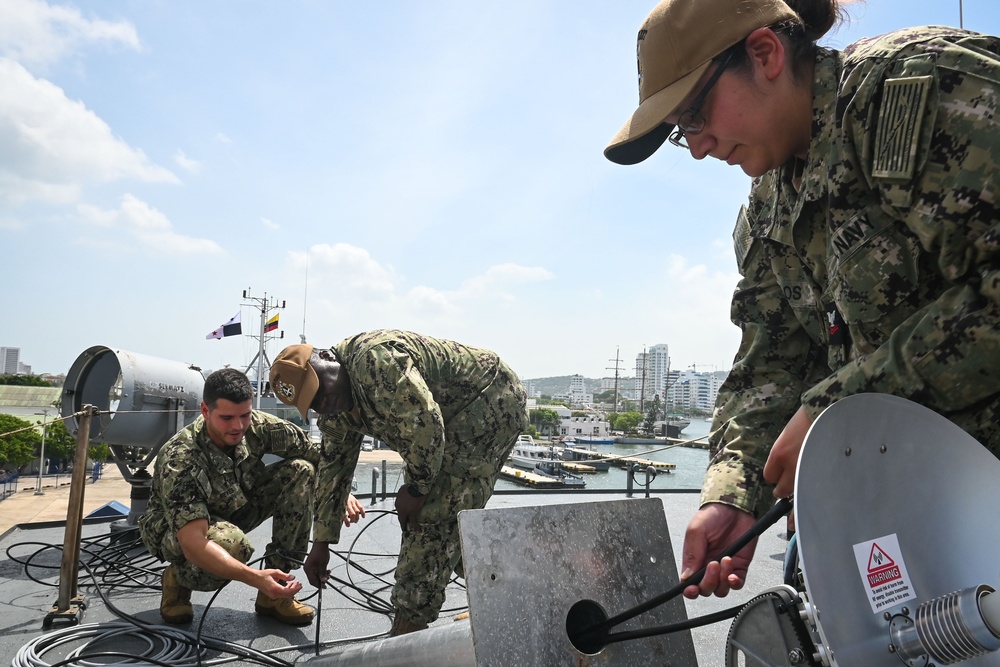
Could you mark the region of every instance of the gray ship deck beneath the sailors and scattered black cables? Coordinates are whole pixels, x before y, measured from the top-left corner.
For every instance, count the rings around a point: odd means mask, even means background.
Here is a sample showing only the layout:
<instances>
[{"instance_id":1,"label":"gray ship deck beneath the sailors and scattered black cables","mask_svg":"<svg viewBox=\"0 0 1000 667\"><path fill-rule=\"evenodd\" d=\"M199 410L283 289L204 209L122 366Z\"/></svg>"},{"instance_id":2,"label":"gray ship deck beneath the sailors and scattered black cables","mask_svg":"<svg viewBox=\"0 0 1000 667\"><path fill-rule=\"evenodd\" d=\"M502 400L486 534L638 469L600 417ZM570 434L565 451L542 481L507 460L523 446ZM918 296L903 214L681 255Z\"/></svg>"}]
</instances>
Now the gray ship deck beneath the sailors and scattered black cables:
<instances>
[{"instance_id":1,"label":"gray ship deck beneath the sailors and scattered black cables","mask_svg":"<svg viewBox=\"0 0 1000 667\"><path fill-rule=\"evenodd\" d=\"M504 493L498 492L488 508L504 508L525 505L545 505L568 502L595 502L601 500L621 500L621 492L548 492L548 493ZM642 497L642 494L637 494ZM679 562L684 529L695 512L698 502L696 491L675 493L654 493L662 499L673 545L675 559ZM127 498L121 502L128 503ZM317 622L305 628L284 626L277 621L260 618L254 614L255 591L242 585L231 584L217 597L210 593L195 592L195 620L190 626L180 626L191 633L213 637L233 644L232 651L210 650L201 664L260 664L267 656L273 656L286 663L303 664L310 658L325 654L340 643L367 641L383 637L390 627L390 619L384 613L388 609L389 589L392 582L392 567L399 545L399 526L395 516L389 512L389 501L370 504L372 512L362 521L360 527L345 529L343 542L338 547L342 560L350 562L337 567L334 576L348 582L338 585L336 590L327 589L322 596L310 597L307 602L320 606ZM0 503L0 512L3 511ZM82 558L95 564L100 558L110 558L119 567L103 567L99 587L106 595L105 602L98 595L98 585L91 580L86 570L79 574L79 590L85 597L86 608L82 612L82 625L66 621L55 621L51 630L43 627L49 612L57 599L58 565L61 552L59 546L64 537L65 526L60 524L22 525L9 532L0 540L0 656L12 660L19 654L28 656L42 650L39 641L51 640L52 633L64 633L78 637L84 628L95 632L108 628L117 620L112 607L122 614L131 615L146 624L159 624L158 613L159 576L156 571L162 567L141 549L122 552L111 544L112 531L109 523L88 524L83 527L84 547ZM265 523L251 534L255 545L267 543L270 523ZM116 538L122 537L118 531ZM784 522L769 529L759 540L757 556L751 568L750 582L746 589L725 599L700 599L685 601L689 617L701 616L720 611L749 600L758 592L781 583L782 561L786 541ZM100 557L99 557L100 555ZM31 558L32 565L25 568L17 560ZM331 566L336 557L331 558ZM43 569L54 568L54 569ZM679 565L678 565L679 566ZM301 570L299 571L301 575ZM29 576L30 575L30 576ZM573 576L567 573L566 576ZM37 579L37 581L33 580ZM302 575L301 578L304 578ZM310 595L317 592L306 584ZM649 591L652 598L663 591ZM648 599L647 598L647 599ZM211 605L209 607L209 604ZM463 611L467 605L466 593L461 583L453 583L449 589L445 613L434 625L452 623L452 616ZM616 612L619 610L615 610ZM163 627L163 626L161 626ZM173 628L171 628L173 629ZM692 631L692 636L700 667L716 667L724 664L723 650L729 622L717 623ZM125 634L105 642L102 650L118 651L136 655L146 650L140 637L142 633L130 629ZM66 645L49 649L41 656L42 662L12 664L55 664L64 659L69 651L79 646L83 640L73 639ZM317 642L319 649L317 651ZM90 650L95 650L91 647ZM246 651L259 651L258 658L241 655ZM112 658L101 660L114 662ZM168 664L184 664L179 658L168 658ZM197 664L197 661L189 664ZM655 661L649 664L658 664Z\"/></svg>"}]
</instances>

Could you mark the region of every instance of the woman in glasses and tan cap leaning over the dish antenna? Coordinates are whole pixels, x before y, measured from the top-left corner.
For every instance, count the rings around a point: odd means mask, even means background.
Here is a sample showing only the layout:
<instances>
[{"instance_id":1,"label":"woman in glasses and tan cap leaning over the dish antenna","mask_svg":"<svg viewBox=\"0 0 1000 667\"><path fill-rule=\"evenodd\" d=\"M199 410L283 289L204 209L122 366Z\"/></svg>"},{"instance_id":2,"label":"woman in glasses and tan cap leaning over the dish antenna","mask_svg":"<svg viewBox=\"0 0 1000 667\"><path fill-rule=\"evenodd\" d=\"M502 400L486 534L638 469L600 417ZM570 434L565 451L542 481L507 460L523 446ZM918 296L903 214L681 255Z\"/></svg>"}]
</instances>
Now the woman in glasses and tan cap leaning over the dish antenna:
<instances>
[{"instance_id":1,"label":"woman in glasses and tan cap leaning over the dish antenna","mask_svg":"<svg viewBox=\"0 0 1000 667\"><path fill-rule=\"evenodd\" d=\"M837 0L683 7L662 2L640 33L642 79L669 108L643 89L646 126L637 112L605 155L638 162L673 132L755 177L734 232L743 340L685 578L791 494L806 431L845 396L916 401L1000 455L1000 39L924 27L840 52L815 43ZM678 78L668 24L700 76ZM709 564L685 594L742 587L752 556Z\"/></svg>"}]
</instances>

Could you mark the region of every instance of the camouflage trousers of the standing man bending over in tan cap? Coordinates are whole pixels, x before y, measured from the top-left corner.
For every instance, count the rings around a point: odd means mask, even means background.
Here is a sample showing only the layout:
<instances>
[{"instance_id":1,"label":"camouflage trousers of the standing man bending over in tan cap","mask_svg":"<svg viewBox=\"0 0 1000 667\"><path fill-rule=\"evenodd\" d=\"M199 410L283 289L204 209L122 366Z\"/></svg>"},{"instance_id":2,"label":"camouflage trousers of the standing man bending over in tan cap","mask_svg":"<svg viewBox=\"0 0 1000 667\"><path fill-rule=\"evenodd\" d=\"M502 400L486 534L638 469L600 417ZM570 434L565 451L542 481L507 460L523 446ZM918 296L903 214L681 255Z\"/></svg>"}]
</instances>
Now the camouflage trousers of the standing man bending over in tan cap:
<instances>
[{"instance_id":1,"label":"camouflage trousers of the standing man bending over in tan cap","mask_svg":"<svg viewBox=\"0 0 1000 667\"><path fill-rule=\"evenodd\" d=\"M435 621L452 571L464 576L458 513L482 509L493 495L500 469L528 424L520 380L506 366L473 405L448 421L449 444L469 453L460 476L445 470L434 479L420 515L420 532L403 533L391 602L415 623ZM449 466L459 472L460 466Z\"/></svg>"}]
</instances>

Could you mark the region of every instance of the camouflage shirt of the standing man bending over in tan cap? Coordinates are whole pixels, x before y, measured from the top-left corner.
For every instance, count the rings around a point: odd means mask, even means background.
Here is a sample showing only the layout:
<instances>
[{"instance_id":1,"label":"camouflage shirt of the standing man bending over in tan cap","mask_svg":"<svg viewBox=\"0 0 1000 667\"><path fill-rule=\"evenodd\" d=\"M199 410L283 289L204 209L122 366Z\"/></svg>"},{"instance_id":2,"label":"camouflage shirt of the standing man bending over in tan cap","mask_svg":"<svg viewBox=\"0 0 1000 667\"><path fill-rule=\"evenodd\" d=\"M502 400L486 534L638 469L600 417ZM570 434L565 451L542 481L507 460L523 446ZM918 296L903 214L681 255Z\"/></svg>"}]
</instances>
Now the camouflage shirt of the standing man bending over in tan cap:
<instances>
[{"instance_id":1,"label":"camouflage shirt of the standing man bending over in tan cap","mask_svg":"<svg viewBox=\"0 0 1000 667\"><path fill-rule=\"evenodd\" d=\"M350 413L319 419L324 456L313 539L339 539L366 434L402 457L406 483L422 493L439 473L495 481L527 411L520 381L494 352L397 330L358 334L333 351L347 370L360 419Z\"/></svg>"}]
</instances>

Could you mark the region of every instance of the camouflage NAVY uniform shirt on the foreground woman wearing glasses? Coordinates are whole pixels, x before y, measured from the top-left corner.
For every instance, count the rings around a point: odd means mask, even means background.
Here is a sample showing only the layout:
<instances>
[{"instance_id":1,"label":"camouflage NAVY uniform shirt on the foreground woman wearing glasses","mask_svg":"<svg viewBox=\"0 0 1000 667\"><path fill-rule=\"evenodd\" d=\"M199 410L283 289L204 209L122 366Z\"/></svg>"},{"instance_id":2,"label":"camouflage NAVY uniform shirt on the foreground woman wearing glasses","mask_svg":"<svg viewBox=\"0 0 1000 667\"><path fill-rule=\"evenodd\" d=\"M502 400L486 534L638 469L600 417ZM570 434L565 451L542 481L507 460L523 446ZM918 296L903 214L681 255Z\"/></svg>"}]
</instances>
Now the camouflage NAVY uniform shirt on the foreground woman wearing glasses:
<instances>
[{"instance_id":1,"label":"camouflage NAVY uniform shirt on the foreground woman wearing glasses","mask_svg":"<svg viewBox=\"0 0 1000 667\"><path fill-rule=\"evenodd\" d=\"M757 179L734 232L743 338L703 502L759 516L792 414L860 392L1000 453L998 54L938 27L819 49L808 158Z\"/></svg>"}]
</instances>

